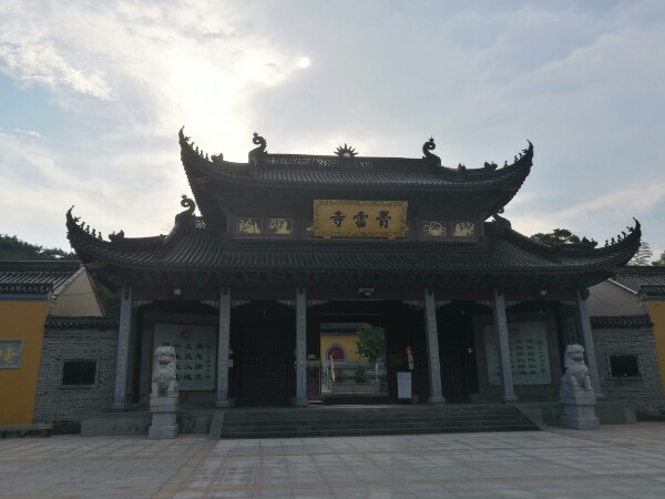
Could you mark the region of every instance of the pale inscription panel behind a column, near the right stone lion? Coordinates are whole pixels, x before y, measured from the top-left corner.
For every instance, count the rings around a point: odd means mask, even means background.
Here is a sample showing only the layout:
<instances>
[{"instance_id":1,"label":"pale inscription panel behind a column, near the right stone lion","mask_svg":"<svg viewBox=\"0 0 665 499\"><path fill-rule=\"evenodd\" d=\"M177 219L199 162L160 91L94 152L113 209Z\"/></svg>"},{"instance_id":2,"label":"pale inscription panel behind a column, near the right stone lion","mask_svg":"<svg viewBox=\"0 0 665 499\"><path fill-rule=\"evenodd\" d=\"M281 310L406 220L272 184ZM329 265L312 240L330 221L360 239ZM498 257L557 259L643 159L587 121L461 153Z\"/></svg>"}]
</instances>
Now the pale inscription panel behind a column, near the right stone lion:
<instances>
[{"instance_id":1,"label":"pale inscription panel behind a column, near the right stone lion","mask_svg":"<svg viewBox=\"0 0 665 499\"><path fill-rule=\"evenodd\" d=\"M501 385L501 363L494 325L483 329L490 385ZM513 384L548 385L552 383L548 330L541 322L513 323L508 325L510 364Z\"/></svg>"}]
</instances>

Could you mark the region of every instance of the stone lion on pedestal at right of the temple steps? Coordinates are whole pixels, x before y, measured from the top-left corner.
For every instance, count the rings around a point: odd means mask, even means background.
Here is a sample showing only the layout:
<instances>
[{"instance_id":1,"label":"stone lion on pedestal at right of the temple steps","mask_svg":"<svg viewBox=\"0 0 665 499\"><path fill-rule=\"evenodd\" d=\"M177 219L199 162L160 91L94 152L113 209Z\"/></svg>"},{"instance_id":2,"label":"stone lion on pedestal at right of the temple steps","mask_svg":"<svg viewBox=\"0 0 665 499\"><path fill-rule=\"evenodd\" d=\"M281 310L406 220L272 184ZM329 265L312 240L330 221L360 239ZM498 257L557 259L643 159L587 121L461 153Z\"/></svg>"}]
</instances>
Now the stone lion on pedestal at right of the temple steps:
<instances>
[{"instance_id":1,"label":"stone lion on pedestal at right of the temple steps","mask_svg":"<svg viewBox=\"0 0 665 499\"><path fill-rule=\"evenodd\" d=\"M598 429L595 391L591 386L589 367L584 364L584 347L582 345L565 347L563 364L565 371L559 390L559 398L563 404L561 426L574 429Z\"/></svg>"}]
</instances>

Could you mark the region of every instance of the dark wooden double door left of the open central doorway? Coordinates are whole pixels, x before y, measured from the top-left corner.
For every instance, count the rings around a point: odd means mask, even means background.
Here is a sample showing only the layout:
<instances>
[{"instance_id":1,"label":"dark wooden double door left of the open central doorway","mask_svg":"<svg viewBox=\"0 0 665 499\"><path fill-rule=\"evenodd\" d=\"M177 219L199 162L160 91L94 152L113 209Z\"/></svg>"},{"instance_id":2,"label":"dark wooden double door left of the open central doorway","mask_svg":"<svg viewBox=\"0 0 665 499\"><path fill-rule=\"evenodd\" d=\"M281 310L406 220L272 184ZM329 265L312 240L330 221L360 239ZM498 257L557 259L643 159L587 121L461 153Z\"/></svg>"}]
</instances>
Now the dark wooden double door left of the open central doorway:
<instances>
[{"instance_id":1,"label":"dark wooden double door left of the open central doorway","mask_svg":"<svg viewBox=\"0 0 665 499\"><path fill-rule=\"evenodd\" d=\"M252 302L232 315L236 404L286 406L295 384L295 310L275 302Z\"/></svg>"}]
</instances>

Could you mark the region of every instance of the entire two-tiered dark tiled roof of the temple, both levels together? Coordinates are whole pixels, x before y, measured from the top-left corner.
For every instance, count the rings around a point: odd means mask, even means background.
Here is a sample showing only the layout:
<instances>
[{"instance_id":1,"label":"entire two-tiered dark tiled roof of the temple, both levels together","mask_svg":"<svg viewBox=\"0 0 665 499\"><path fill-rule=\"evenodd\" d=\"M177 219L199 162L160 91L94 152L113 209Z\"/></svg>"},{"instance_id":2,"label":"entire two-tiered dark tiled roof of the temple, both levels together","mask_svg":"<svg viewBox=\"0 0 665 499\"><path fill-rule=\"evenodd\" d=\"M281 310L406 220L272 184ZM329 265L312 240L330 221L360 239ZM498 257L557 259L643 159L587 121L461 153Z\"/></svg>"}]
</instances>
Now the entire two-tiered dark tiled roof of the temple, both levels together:
<instances>
[{"instance_id":1,"label":"entire two-tiered dark tiled roof of the temple, both levels together","mask_svg":"<svg viewBox=\"0 0 665 499\"><path fill-rule=\"evenodd\" d=\"M284 273L325 279L323 274L356 273L405 278L499 276L510 281L546 275L553 281L569 277L580 281L586 276L584 282L591 285L612 275L616 266L625 265L640 245L640 224L621 241L613 240L613 244L602 248L589 241L550 246L512 231L510 223L501 217L485 223L480 242L233 238L215 225L223 218L219 212L224 213L236 201L252 202L241 196L273 194L269 191L273 186L282 187L275 198L294 190L306 190L300 191L306 195L289 197L289 203L316 198L318 193L345 198L356 187L372 195L383 193L380 195L415 200L432 193L427 203L443 200L442 203L458 210L462 205L467 212L475 212L473 216L484 220L514 196L529 175L533 159L531 143L510 165L498 167L485 163L484 167L473 170L442 166L438 156L430 153L433 140L423 145L421 159L362 157L351 151L347 151L348 157L268 154L263 138L255 134L253 142L259 146L249 152L248 162L233 163L221 155L208 159L198 147L194 149L181 130L181 157L203 218L193 216L191 200L183 200L181 204L188 210L176 216L168 235L127 238L119 234L108 242L94 231L90 233L84 224L79 225L70 210L66 225L72 246L86 264L99 266L101 273L121 272L125 276L131 272L192 273L202 278L215 273Z\"/></svg>"}]
</instances>

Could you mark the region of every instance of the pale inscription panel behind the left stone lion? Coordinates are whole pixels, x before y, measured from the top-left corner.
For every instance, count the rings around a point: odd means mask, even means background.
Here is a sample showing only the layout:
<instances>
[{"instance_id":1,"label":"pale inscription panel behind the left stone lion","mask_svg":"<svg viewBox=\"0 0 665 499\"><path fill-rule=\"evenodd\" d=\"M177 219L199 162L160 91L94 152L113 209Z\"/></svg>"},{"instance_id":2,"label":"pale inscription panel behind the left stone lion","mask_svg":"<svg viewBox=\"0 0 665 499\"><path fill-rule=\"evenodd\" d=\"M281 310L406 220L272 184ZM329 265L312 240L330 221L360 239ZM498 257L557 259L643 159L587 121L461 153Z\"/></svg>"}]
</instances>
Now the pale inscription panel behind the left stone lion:
<instances>
[{"instance_id":1,"label":"pale inscription panel behind the left stone lion","mask_svg":"<svg viewBox=\"0 0 665 499\"><path fill-rule=\"evenodd\" d=\"M155 324L154 346L175 348L177 388L181 391L215 389L217 328L190 324Z\"/></svg>"}]
</instances>

